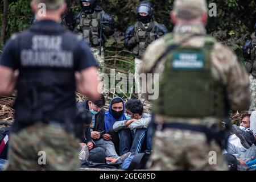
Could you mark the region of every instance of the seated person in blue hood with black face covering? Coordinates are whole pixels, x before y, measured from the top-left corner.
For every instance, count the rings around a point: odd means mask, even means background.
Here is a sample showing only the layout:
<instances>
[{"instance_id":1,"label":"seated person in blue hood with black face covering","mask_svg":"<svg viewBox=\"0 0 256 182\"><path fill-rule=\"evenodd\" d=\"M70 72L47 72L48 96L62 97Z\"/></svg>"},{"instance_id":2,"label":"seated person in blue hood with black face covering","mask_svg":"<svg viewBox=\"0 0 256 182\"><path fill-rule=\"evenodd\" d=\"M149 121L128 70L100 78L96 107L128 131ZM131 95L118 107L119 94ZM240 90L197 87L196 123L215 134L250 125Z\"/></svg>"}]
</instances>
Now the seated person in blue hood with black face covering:
<instances>
[{"instance_id":1,"label":"seated person in blue hood with black face covering","mask_svg":"<svg viewBox=\"0 0 256 182\"><path fill-rule=\"evenodd\" d=\"M105 134L102 137L105 140L112 140L115 148L118 151L119 137L118 133L113 131L113 125L117 121L126 120L125 116L125 102L121 97L114 97L110 102L109 110L105 112Z\"/></svg>"}]
</instances>

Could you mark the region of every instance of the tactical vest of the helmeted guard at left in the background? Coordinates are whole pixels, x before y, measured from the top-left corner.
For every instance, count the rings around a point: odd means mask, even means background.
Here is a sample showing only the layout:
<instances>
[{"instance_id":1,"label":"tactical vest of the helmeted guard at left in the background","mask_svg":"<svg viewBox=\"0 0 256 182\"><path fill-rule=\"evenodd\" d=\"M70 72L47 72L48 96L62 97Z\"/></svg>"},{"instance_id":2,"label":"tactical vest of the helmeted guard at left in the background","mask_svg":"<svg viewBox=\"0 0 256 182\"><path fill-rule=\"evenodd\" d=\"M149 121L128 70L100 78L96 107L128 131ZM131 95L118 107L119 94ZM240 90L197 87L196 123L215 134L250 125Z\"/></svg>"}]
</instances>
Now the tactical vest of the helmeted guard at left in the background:
<instances>
[{"instance_id":1,"label":"tactical vest of the helmeted guard at left in the background","mask_svg":"<svg viewBox=\"0 0 256 182\"><path fill-rule=\"evenodd\" d=\"M83 38L92 46L99 45L101 14L104 16L105 12L102 10L94 11L91 15L85 13L80 15L80 31L82 32Z\"/></svg>"}]
</instances>

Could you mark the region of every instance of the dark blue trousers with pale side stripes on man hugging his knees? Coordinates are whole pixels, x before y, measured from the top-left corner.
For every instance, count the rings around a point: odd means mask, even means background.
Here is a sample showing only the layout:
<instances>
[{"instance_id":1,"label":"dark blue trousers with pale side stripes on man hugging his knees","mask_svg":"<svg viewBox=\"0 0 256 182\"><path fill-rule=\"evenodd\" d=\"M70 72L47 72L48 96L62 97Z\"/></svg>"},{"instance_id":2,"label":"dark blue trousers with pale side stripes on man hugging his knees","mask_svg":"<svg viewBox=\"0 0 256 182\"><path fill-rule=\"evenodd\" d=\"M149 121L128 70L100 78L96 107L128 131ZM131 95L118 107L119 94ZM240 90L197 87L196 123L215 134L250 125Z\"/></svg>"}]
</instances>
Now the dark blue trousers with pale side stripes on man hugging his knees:
<instances>
[{"instance_id":1,"label":"dark blue trousers with pale side stripes on man hugging his knees","mask_svg":"<svg viewBox=\"0 0 256 182\"><path fill-rule=\"evenodd\" d=\"M141 152L142 144L146 136L147 129L137 129L133 134L130 129L119 131L119 154L120 156L127 152L138 154Z\"/></svg>"}]
</instances>

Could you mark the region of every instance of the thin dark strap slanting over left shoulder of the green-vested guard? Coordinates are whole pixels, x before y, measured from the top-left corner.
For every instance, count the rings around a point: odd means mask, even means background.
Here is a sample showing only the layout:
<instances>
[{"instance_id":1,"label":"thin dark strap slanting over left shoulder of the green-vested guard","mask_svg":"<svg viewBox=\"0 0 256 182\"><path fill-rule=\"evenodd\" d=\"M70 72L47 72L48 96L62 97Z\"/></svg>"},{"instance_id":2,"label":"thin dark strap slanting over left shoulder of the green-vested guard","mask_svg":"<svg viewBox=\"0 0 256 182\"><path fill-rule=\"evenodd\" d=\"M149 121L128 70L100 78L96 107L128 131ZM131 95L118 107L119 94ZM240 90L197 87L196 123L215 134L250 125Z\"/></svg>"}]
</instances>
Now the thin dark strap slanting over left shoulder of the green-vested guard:
<instances>
[{"instance_id":1,"label":"thin dark strap slanting over left shoulder of the green-vested guard","mask_svg":"<svg viewBox=\"0 0 256 182\"><path fill-rule=\"evenodd\" d=\"M153 65L153 67L150 69L150 71L148 73L152 73L154 71L154 69L156 68L156 66L159 64L159 62L168 55L168 53L170 53L172 50L180 47L182 44L184 44L185 42L187 42L189 39L193 38L194 36L201 36L201 34L192 34L190 36L188 36L187 38L181 40L178 44L174 43L174 44L170 44L170 46L168 46L166 48L166 51L164 51L164 53L158 58L158 60L155 61L155 64ZM166 39L168 38L168 35L166 36ZM170 38L170 37L169 37ZM168 40L170 41L170 40Z\"/></svg>"}]
</instances>

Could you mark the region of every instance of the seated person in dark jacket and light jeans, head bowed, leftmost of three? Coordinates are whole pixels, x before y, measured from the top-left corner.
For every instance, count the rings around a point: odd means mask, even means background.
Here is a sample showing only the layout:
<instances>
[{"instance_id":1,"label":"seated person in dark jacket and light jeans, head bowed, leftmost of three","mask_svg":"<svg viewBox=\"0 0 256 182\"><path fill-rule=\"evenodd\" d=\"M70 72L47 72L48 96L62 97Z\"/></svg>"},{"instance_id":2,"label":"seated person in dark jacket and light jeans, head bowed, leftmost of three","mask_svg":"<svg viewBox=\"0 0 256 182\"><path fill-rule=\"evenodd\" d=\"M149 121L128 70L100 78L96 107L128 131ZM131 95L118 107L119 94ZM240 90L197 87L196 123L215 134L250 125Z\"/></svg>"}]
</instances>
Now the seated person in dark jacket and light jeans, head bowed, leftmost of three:
<instances>
[{"instance_id":1,"label":"seated person in dark jacket and light jeans, head bowed, leftmost of three","mask_svg":"<svg viewBox=\"0 0 256 182\"><path fill-rule=\"evenodd\" d=\"M77 103L78 111L88 110L92 114L92 122L90 123L90 136L94 143L94 147L102 147L106 151L107 157L118 158L117 152L115 152L114 143L112 141L107 141L102 138L105 134L104 117L105 110L103 106L105 105L105 98L101 95L99 100L86 100Z\"/></svg>"}]
</instances>

